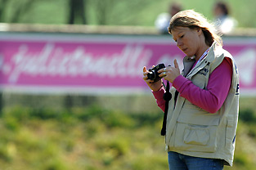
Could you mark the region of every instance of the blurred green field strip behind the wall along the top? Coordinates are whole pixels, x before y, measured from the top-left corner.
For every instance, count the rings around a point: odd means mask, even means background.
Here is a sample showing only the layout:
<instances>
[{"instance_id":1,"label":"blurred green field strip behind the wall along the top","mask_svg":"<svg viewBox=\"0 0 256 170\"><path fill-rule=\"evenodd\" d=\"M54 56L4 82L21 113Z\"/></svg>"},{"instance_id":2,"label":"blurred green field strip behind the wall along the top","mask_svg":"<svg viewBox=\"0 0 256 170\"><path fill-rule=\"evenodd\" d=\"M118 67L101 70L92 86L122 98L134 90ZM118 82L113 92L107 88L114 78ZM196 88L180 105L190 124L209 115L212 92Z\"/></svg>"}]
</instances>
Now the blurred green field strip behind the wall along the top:
<instances>
[{"instance_id":1,"label":"blurred green field strip behind the wall along the top","mask_svg":"<svg viewBox=\"0 0 256 170\"><path fill-rule=\"evenodd\" d=\"M72 9L75 9L74 24L154 26L156 16L159 13L168 12L172 2L179 2L184 10L200 11L209 20L213 20L213 4L218 1L0 0L0 22L69 24ZM236 18L239 27L256 27L254 0L223 0L222 2L227 2L231 16Z\"/></svg>"}]
</instances>

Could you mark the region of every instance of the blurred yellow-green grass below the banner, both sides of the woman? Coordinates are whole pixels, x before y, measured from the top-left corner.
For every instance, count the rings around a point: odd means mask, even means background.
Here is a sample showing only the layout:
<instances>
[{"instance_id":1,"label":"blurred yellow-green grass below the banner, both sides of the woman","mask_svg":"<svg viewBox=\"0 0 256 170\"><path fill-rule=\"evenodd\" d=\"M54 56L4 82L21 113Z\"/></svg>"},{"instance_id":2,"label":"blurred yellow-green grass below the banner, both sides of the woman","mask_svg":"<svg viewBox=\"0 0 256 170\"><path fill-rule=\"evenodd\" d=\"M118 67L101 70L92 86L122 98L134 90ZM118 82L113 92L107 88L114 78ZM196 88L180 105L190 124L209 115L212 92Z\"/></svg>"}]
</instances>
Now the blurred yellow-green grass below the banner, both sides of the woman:
<instances>
[{"instance_id":1,"label":"blurred yellow-green grass below the banner, both sides of the woman","mask_svg":"<svg viewBox=\"0 0 256 170\"><path fill-rule=\"evenodd\" d=\"M115 105L115 100L121 104L120 97L111 96L110 101L114 103L109 102L108 108L103 105L103 101L106 101L103 96L94 99L91 105L74 105L70 110L51 107L38 110L31 105L8 105L0 119L1 168L168 169L164 137L159 134L163 114L160 110L142 111L145 105L155 101L142 104L140 111L110 109L111 105ZM136 101L134 98L130 97L129 100ZM246 117L256 118L254 100L240 100L234 167L224 169L253 170L256 166L256 124ZM124 96L123 101L127 102ZM248 107L251 108L250 114L246 110Z\"/></svg>"}]
</instances>

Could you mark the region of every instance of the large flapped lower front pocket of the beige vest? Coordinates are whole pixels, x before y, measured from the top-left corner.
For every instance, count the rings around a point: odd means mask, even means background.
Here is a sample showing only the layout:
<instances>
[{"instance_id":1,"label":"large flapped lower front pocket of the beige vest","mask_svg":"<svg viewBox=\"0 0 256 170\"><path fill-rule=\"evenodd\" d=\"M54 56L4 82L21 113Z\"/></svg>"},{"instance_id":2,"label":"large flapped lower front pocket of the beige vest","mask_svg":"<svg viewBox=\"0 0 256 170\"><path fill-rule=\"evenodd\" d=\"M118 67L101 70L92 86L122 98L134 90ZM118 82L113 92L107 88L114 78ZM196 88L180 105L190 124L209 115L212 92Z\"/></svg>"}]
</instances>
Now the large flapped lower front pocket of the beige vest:
<instances>
[{"instance_id":1,"label":"large flapped lower front pocket of the beige vest","mask_svg":"<svg viewBox=\"0 0 256 170\"><path fill-rule=\"evenodd\" d=\"M204 126L177 122L174 147L177 150L215 152L217 126Z\"/></svg>"}]
</instances>

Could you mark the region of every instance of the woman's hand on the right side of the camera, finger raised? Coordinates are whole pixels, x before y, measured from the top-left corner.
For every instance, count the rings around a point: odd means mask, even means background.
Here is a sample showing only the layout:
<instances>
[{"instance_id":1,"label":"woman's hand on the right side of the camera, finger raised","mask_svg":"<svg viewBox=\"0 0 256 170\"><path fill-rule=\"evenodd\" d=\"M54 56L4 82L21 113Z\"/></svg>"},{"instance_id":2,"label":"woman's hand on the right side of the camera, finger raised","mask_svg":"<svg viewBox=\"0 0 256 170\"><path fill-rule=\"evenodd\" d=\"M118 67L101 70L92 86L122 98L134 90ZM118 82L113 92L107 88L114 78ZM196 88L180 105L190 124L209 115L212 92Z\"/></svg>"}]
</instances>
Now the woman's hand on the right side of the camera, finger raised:
<instances>
[{"instance_id":1,"label":"woman's hand on the right side of the camera, finger raised","mask_svg":"<svg viewBox=\"0 0 256 170\"><path fill-rule=\"evenodd\" d=\"M174 60L174 67L168 66L164 69L159 69L158 73L160 77L163 77L165 80L168 80L170 83L173 83L174 79L179 76L180 69L177 65L177 60Z\"/></svg>"}]
</instances>

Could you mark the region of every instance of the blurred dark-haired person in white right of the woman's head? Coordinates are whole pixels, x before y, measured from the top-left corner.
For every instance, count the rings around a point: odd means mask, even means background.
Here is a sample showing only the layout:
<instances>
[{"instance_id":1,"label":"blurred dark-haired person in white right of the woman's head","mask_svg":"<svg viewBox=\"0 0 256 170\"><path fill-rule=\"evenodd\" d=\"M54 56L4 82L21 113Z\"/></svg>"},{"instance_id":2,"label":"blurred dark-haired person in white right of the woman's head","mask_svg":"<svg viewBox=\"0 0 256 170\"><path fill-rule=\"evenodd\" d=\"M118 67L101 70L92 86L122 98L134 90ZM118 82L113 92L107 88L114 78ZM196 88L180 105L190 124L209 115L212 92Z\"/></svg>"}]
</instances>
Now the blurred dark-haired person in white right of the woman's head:
<instances>
[{"instance_id":1,"label":"blurred dark-haired person in white right of the woman's head","mask_svg":"<svg viewBox=\"0 0 256 170\"><path fill-rule=\"evenodd\" d=\"M215 25L220 34L230 34L236 28L237 21L230 16L229 8L225 2L217 2L213 7Z\"/></svg>"}]
</instances>

